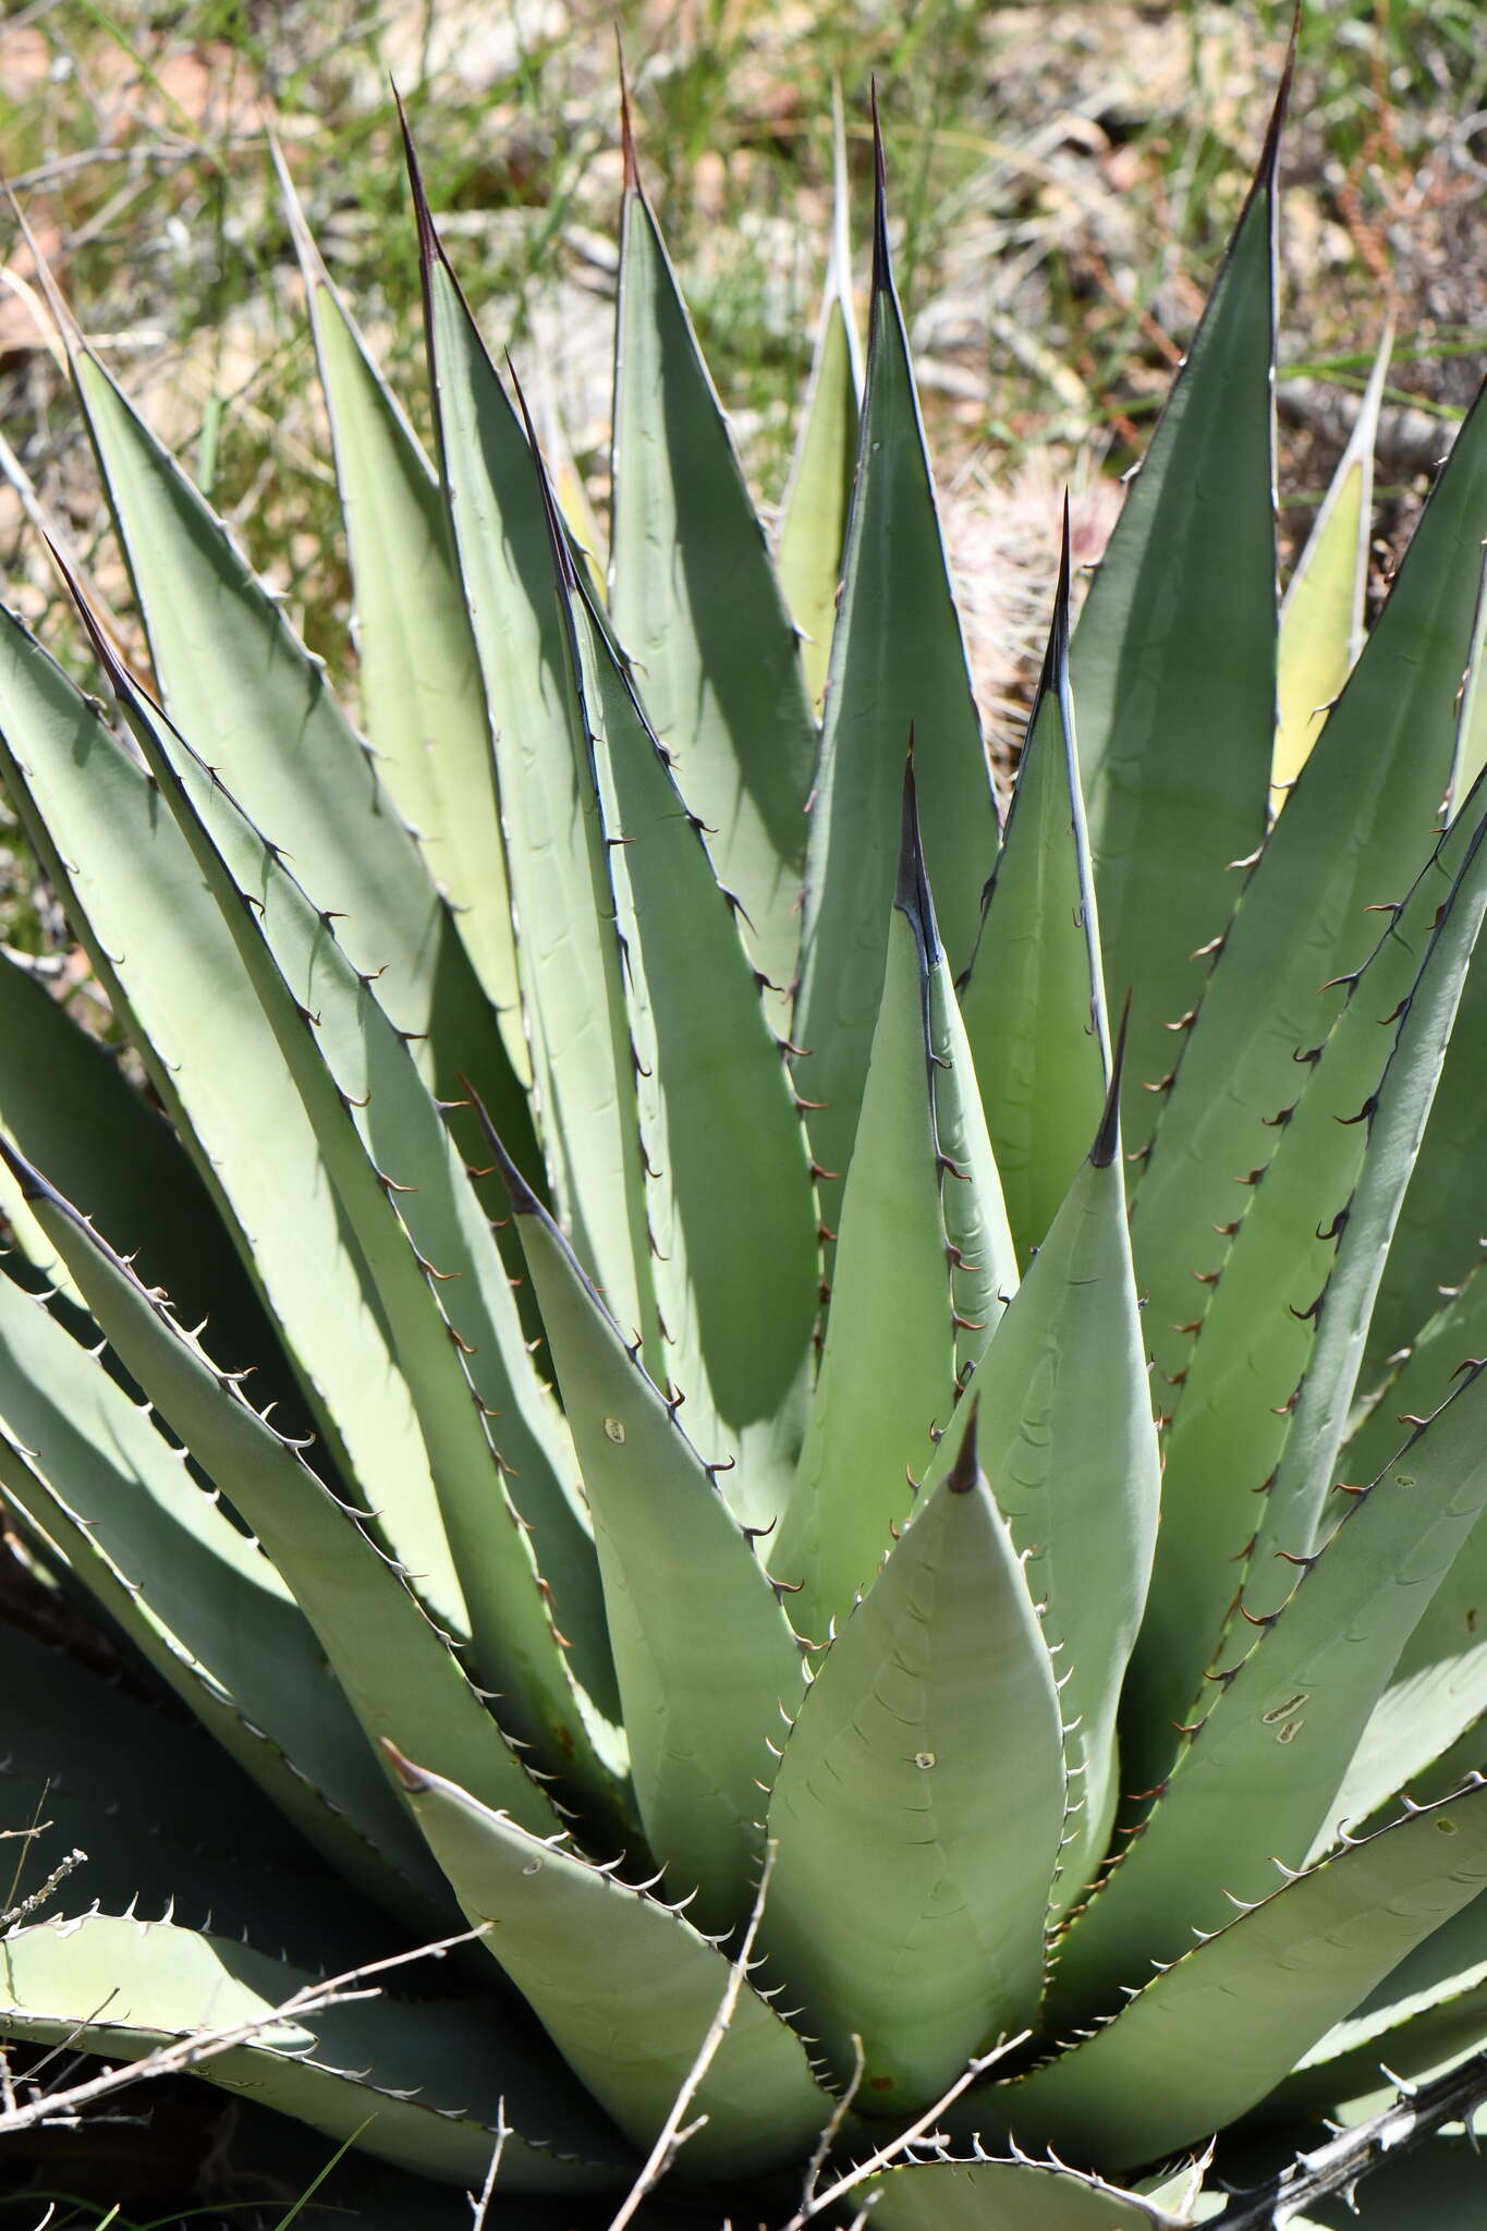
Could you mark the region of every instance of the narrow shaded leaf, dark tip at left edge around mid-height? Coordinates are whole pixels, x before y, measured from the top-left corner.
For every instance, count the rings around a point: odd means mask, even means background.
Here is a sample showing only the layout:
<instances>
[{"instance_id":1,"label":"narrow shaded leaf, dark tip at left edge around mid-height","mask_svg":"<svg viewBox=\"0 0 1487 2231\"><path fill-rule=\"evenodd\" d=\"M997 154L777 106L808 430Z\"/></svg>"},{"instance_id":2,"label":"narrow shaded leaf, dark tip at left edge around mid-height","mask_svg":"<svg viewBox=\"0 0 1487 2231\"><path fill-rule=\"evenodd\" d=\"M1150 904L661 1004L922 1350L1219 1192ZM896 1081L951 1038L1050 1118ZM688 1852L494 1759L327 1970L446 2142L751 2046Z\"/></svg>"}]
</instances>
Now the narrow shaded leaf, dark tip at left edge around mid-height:
<instances>
[{"instance_id":1,"label":"narrow shaded leaf, dark tip at left edge around mid-height","mask_svg":"<svg viewBox=\"0 0 1487 2231\"><path fill-rule=\"evenodd\" d=\"M60 1194L9 1151L38 1223L62 1254L125 1370L196 1455L294 1591L368 1738L401 1733L533 1827L553 1818L448 1640L406 1577L308 1470L299 1450L207 1361L165 1301L138 1283Z\"/></svg>"}]
</instances>

